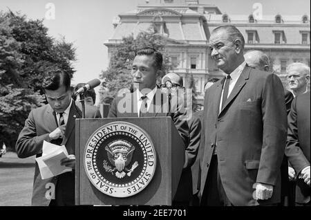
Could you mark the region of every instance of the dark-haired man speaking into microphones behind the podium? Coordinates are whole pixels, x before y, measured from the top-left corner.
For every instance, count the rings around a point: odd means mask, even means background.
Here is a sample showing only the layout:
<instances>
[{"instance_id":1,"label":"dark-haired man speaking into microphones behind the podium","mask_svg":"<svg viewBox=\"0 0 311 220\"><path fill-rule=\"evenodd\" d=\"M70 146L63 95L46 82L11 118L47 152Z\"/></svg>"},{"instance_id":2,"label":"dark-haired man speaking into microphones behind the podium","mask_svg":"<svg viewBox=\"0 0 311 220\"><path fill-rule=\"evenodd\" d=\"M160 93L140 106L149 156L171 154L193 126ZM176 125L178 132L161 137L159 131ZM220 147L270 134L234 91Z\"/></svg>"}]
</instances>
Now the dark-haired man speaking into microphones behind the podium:
<instances>
[{"instance_id":1,"label":"dark-haired man speaking into microphones behind the podium","mask_svg":"<svg viewBox=\"0 0 311 220\"><path fill-rule=\"evenodd\" d=\"M140 49L136 53L131 70L134 91L125 94L125 97L117 96L113 100L108 118L170 116L187 146L189 129L186 111L181 112L183 106L179 101L171 102L171 107L166 108L167 94L162 93L156 84L161 68L162 54L160 52L153 48Z\"/></svg>"}]
</instances>

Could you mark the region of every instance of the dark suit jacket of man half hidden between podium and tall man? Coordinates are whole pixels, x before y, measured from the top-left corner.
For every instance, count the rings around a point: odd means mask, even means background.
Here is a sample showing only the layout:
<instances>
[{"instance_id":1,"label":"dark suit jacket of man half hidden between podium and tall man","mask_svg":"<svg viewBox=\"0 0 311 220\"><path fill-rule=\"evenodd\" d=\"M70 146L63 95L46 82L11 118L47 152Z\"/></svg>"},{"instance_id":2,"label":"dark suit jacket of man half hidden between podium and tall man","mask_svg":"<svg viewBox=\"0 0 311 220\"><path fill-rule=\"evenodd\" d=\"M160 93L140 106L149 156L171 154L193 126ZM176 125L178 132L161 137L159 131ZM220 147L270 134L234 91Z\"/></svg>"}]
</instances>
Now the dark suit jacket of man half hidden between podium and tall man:
<instances>
[{"instance_id":1,"label":"dark suit jacket of man half hidden between podium and tall man","mask_svg":"<svg viewBox=\"0 0 311 220\"><path fill-rule=\"evenodd\" d=\"M197 192L198 169L193 168L200 146L201 122L198 113L193 113L187 121L190 142L185 152L185 165L182 169L174 201L190 201L192 194ZM198 165L196 166L198 168ZM193 172L194 171L194 172Z\"/></svg>"}]
</instances>

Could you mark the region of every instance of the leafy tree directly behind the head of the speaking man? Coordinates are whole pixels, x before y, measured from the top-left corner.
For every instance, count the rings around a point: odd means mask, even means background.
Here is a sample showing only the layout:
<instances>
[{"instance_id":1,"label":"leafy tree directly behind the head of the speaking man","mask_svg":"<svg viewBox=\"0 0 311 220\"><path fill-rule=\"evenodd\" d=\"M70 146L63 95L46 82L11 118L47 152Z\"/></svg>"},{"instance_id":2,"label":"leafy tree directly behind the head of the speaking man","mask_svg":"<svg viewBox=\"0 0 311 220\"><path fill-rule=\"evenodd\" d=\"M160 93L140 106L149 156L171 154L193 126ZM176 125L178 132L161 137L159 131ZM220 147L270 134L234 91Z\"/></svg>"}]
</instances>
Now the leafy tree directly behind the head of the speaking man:
<instances>
[{"instance_id":1,"label":"leafy tree directly behind the head of the speaking man","mask_svg":"<svg viewBox=\"0 0 311 220\"><path fill-rule=\"evenodd\" d=\"M162 37L162 35L156 34L153 28L139 33L135 38L133 35L123 37L122 43L117 45L116 50L111 55L109 68L107 71L102 71L100 76L102 79L105 79L100 92L100 102L111 103L120 89L129 89L131 87L131 65L136 51L140 48L151 47L162 53L163 64L160 77L172 70L175 66L171 64L169 55L165 51L166 45L167 39Z\"/></svg>"}]
</instances>

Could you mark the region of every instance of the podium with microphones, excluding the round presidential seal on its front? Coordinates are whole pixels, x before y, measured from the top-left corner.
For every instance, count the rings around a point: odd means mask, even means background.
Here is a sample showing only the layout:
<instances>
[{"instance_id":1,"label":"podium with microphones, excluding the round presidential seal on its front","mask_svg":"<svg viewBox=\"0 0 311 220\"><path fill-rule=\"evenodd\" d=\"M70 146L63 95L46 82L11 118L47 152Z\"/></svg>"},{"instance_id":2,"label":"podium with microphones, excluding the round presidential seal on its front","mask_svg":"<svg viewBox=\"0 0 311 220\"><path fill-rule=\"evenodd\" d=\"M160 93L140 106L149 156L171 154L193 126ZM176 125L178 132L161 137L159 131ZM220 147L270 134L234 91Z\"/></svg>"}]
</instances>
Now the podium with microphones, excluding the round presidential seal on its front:
<instances>
[{"instance_id":1,"label":"podium with microphones, excluding the round presidential seal on its front","mask_svg":"<svg viewBox=\"0 0 311 220\"><path fill-rule=\"evenodd\" d=\"M123 198L100 192L89 180L84 164L89 138L111 122L140 127L149 134L156 151L156 169L149 184L137 194ZM170 117L77 119L75 123L76 205L171 205L185 163L185 145Z\"/></svg>"}]
</instances>

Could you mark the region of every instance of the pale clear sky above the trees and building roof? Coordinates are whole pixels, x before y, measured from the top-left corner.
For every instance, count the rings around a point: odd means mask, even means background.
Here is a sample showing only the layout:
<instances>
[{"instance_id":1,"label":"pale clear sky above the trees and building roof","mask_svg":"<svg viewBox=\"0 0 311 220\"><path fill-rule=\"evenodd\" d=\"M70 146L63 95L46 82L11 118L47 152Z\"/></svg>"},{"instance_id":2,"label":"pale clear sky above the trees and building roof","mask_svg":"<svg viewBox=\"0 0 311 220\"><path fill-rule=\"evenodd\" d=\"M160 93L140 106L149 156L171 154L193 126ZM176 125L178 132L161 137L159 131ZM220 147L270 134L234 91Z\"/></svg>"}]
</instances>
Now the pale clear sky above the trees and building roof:
<instances>
[{"instance_id":1,"label":"pale clear sky above the trees and building roof","mask_svg":"<svg viewBox=\"0 0 311 220\"><path fill-rule=\"evenodd\" d=\"M28 19L44 19L48 34L73 42L77 61L73 84L98 78L108 67L108 50L104 42L113 35L113 18L135 10L144 0L1 0L0 10L21 12ZM218 6L228 15L249 15L254 3L261 3L263 15L310 15L310 0L200 0ZM51 5L55 6L55 17ZM49 19L47 19L49 18ZM98 87L95 88L98 94ZM99 99L97 99L98 102Z\"/></svg>"}]
</instances>

